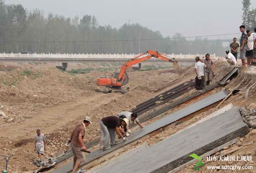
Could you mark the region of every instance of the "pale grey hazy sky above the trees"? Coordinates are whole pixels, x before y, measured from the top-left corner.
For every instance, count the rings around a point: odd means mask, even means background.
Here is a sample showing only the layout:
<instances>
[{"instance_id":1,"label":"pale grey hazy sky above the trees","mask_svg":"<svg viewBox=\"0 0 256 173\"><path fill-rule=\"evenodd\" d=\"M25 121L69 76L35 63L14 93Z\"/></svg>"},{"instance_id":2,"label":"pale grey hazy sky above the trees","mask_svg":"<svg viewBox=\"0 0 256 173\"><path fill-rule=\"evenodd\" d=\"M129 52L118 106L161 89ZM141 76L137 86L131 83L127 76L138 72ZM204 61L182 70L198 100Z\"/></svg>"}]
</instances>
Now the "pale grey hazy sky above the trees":
<instances>
[{"instance_id":1,"label":"pale grey hazy sky above the trees","mask_svg":"<svg viewBox=\"0 0 256 173\"><path fill-rule=\"evenodd\" d=\"M254 2L252 2L254 1ZM202 36L239 32L242 0L5 0L28 10L42 9L65 17L95 15L100 25L140 23L163 36L180 32ZM256 0L251 0L256 8ZM223 37L222 37L223 38Z\"/></svg>"}]
</instances>

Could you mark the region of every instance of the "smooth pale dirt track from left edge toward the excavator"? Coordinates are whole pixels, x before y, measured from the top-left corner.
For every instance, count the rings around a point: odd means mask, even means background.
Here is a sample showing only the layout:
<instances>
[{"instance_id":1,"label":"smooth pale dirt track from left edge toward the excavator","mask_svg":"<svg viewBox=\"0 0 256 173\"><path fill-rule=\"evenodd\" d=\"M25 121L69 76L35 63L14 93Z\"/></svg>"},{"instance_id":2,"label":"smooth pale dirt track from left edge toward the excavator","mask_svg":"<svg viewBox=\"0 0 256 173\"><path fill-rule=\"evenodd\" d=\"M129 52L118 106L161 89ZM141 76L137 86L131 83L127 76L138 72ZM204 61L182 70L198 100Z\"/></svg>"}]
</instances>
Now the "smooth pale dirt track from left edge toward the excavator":
<instances>
[{"instance_id":1,"label":"smooth pale dirt track from left edge toward the excavator","mask_svg":"<svg viewBox=\"0 0 256 173\"><path fill-rule=\"evenodd\" d=\"M8 127L0 128L1 137L10 137L15 140L31 138L30 134L35 133L35 130L38 128L42 129L44 133L51 133L55 129L65 125L68 126L68 123L73 119L95 109L99 105L106 104L120 96L122 95L118 93L109 95L97 93L89 98L82 97L73 103L65 103L54 108L43 109L41 113L22 123L11 124Z\"/></svg>"}]
</instances>

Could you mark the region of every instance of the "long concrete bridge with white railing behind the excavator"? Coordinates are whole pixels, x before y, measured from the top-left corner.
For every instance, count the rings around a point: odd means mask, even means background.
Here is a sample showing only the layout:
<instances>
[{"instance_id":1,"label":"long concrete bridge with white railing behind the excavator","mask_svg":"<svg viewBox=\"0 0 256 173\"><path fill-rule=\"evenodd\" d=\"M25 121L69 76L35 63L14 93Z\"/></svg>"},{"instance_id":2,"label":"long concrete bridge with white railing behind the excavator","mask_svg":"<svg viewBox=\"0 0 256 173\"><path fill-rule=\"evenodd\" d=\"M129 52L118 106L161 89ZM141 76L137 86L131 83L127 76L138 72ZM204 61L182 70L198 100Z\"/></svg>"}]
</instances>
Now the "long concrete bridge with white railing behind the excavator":
<instances>
[{"instance_id":1,"label":"long concrete bridge with white railing behind the excavator","mask_svg":"<svg viewBox=\"0 0 256 173\"><path fill-rule=\"evenodd\" d=\"M62 63L111 63L116 62L123 64L125 61L136 57L135 54L0 54L0 61L2 62L62 62ZM170 58L175 58L180 66L189 66L194 64L194 58L199 56L200 58L204 55L200 54L179 54L179 55L167 55ZM215 54L210 55L215 58ZM143 62L142 65L166 65L165 61L161 59L151 58ZM171 65L172 66L172 65Z\"/></svg>"}]
</instances>

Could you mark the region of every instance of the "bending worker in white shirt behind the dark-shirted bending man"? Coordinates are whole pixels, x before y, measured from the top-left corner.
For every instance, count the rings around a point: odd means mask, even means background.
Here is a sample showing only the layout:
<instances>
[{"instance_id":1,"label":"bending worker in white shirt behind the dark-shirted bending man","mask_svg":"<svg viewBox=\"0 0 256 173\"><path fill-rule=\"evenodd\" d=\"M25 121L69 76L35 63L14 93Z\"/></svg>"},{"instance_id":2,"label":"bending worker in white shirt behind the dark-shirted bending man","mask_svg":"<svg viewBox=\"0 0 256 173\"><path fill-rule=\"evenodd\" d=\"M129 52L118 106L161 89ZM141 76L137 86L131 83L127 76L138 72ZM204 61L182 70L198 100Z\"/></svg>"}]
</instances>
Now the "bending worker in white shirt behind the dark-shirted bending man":
<instances>
[{"instance_id":1,"label":"bending worker in white shirt behind the dark-shirted bending man","mask_svg":"<svg viewBox=\"0 0 256 173\"><path fill-rule=\"evenodd\" d=\"M142 126L142 124L139 122L138 116L136 113L132 113L129 111L123 111L121 113L119 113L117 116L119 116L120 118L127 118L129 120L129 123L137 123L139 125L139 127L143 128L145 126ZM124 132L128 132L131 134L131 130L129 129L129 124L124 126Z\"/></svg>"}]
</instances>

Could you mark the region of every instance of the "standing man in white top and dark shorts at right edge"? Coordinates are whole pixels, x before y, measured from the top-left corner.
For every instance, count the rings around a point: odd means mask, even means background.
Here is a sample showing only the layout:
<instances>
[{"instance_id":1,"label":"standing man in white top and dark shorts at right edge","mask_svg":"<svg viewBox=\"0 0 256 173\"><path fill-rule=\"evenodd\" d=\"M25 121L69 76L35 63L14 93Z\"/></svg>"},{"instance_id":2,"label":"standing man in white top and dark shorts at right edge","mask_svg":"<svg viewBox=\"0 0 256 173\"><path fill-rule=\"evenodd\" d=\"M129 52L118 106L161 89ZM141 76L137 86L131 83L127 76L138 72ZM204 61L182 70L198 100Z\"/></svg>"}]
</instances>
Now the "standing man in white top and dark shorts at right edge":
<instances>
[{"instance_id":1,"label":"standing man in white top and dark shorts at right edge","mask_svg":"<svg viewBox=\"0 0 256 173\"><path fill-rule=\"evenodd\" d=\"M254 39L253 35L251 34L250 30L247 30L247 50L246 50L246 57L247 57L247 65L251 65L251 62L253 62L253 45L254 45Z\"/></svg>"}]
</instances>

